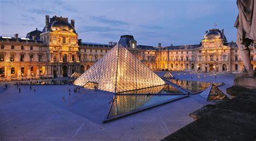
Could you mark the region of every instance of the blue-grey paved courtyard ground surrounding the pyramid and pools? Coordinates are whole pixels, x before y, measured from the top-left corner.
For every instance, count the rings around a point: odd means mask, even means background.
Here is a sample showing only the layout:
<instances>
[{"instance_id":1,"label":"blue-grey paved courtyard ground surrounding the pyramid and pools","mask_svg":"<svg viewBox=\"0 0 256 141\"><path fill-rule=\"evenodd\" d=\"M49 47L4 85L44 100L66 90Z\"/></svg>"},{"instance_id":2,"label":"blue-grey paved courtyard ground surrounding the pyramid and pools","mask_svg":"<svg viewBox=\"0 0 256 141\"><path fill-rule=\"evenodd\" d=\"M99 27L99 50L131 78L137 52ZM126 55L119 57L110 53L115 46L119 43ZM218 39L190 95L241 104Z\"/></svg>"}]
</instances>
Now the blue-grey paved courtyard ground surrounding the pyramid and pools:
<instances>
[{"instance_id":1,"label":"blue-grey paved courtyard ground surrounding the pyramid and pools","mask_svg":"<svg viewBox=\"0 0 256 141\"><path fill-rule=\"evenodd\" d=\"M233 74L217 74L216 79L210 74L198 74L200 78L189 72L173 74L179 79L224 82L219 87L224 93L234 79ZM21 86L21 93L13 82L8 84L7 90L3 90L4 83L0 87L0 140L159 140L191 123L188 115L210 103L191 95L103 124L109 109L107 100L113 94L81 89L84 95L68 106L62 103L62 97L69 95L69 89L73 94L76 86L72 84L32 86L36 91Z\"/></svg>"}]
</instances>

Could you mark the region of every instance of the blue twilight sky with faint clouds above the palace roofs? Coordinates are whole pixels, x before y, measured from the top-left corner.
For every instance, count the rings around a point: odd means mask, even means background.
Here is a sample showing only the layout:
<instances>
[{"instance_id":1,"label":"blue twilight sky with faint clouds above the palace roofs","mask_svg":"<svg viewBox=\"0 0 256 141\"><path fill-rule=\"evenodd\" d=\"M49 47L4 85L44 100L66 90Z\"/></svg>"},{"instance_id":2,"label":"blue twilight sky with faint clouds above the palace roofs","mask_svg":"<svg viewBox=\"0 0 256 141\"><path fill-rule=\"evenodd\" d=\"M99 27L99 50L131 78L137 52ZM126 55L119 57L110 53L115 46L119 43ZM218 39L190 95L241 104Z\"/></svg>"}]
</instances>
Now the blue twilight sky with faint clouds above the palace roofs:
<instances>
[{"instance_id":1,"label":"blue twilight sky with faint clouds above the palace roofs","mask_svg":"<svg viewBox=\"0 0 256 141\"><path fill-rule=\"evenodd\" d=\"M131 34L138 45L199 44L214 23L235 41L237 14L235 0L0 0L0 36L42 31L45 15L56 15L75 19L78 38L91 43L108 44Z\"/></svg>"}]
</instances>

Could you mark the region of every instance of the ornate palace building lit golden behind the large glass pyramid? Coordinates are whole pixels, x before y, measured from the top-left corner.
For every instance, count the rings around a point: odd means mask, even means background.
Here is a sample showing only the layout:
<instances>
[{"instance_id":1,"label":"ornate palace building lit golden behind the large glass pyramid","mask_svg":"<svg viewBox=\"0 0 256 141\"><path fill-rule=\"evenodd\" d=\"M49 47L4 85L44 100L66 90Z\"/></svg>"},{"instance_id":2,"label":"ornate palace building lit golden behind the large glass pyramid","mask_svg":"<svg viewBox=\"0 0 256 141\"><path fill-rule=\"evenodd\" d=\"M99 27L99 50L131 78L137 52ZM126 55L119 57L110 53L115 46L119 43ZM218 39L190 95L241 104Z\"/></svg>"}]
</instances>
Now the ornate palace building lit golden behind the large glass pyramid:
<instances>
[{"instance_id":1,"label":"ornate palace building lit golden behind the large glass pyramid","mask_svg":"<svg viewBox=\"0 0 256 141\"><path fill-rule=\"evenodd\" d=\"M206 31L199 45L157 47L137 45L133 36L121 36L119 43L152 70L187 70L239 73L243 64L235 43L227 43L224 30ZM84 43L78 40L75 20L45 16L42 31L26 38L0 36L0 80L28 80L65 77L84 73L117 43ZM251 54L256 68L255 54Z\"/></svg>"}]
</instances>

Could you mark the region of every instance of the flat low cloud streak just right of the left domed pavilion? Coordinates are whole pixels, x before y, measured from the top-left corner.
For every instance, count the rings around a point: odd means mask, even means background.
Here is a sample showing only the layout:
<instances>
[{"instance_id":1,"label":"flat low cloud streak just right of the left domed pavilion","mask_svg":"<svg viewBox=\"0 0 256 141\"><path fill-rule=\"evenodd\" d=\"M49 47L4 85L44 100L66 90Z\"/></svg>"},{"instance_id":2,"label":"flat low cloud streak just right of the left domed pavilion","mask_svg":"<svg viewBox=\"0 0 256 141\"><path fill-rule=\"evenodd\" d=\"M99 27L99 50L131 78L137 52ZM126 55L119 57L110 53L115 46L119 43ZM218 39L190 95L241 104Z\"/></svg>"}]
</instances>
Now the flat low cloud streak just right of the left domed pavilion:
<instances>
[{"instance_id":1,"label":"flat low cloud streak just right of the left domed pavilion","mask_svg":"<svg viewBox=\"0 0 256 141\"><path fill-rule=\"evenodd\" d=\"M124 31L123 29L117 29L106 26L81 26L77 30L78 32L113 32L113 31Z\"/></svg>"}]
</instances>

